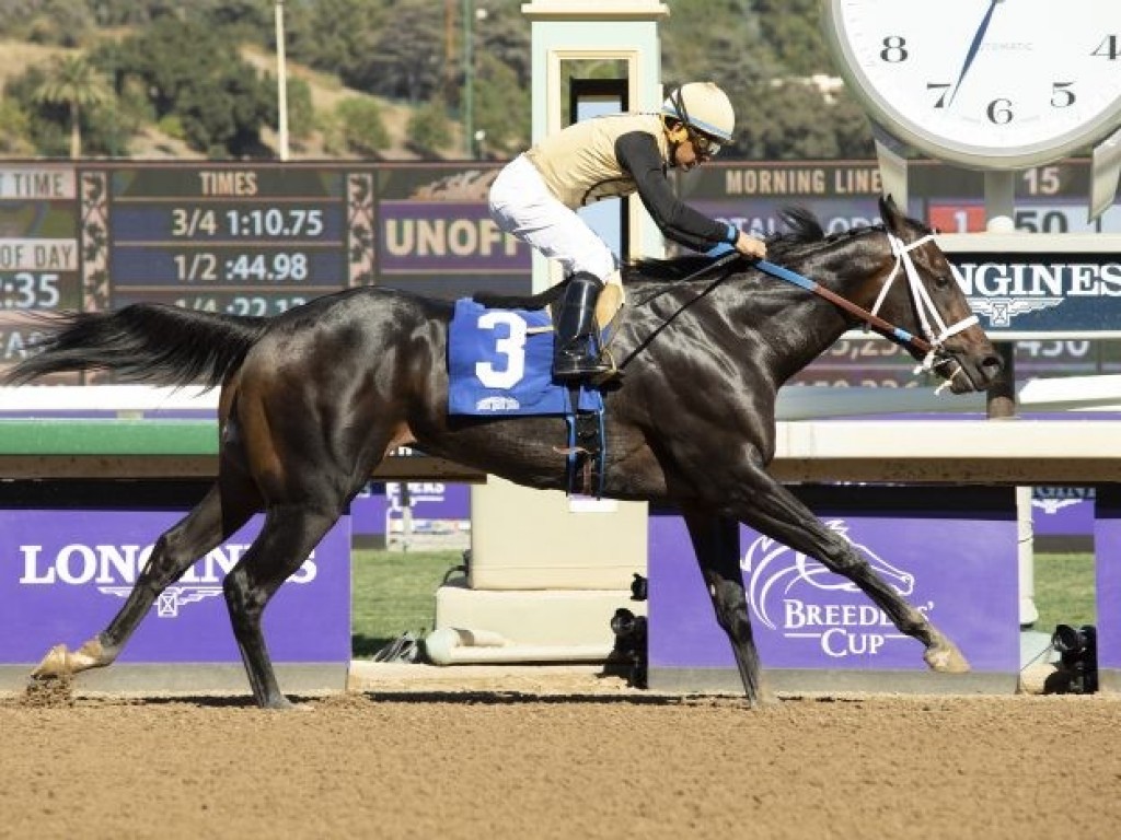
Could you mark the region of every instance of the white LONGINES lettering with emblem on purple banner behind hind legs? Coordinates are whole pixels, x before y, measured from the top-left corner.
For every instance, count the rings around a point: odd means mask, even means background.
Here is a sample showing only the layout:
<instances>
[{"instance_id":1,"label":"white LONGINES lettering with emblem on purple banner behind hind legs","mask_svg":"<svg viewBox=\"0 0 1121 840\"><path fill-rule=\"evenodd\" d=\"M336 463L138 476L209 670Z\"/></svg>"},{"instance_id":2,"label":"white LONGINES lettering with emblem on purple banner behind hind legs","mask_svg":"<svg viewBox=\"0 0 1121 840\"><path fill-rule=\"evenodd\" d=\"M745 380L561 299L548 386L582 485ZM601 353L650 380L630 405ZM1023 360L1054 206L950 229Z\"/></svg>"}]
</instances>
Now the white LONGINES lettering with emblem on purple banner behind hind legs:
<instances>
[{"instance_id":1,"label":"white LONGINES lettering with emblem on purple banner behind hind legs","mask_svg":"<svg viewBox=\"0 0 1121 840\"><path fill-rule=\"evenodd\" d=\"M127 598L137 576L148 564L152 545L87 545L71 543L53 556L40 545L20 545L21 586L93 587L102 595ZM249 549L248 544L226 543L195 562L175 586L169 586L156 601L156 615L175 618L191 604L222 595L222 579ZM318 569L315 552L288 578L287 582L309 584Z\"/></svg>"}]
</instances>

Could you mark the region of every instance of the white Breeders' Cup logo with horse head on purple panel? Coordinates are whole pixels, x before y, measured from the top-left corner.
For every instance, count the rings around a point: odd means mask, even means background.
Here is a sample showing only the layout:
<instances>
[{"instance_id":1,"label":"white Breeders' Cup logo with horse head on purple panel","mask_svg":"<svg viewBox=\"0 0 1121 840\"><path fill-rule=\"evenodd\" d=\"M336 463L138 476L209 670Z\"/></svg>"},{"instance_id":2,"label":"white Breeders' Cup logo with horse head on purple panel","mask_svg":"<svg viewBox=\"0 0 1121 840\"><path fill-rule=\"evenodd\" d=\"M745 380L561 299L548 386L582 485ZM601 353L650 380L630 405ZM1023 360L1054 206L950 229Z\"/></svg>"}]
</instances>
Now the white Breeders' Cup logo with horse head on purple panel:
<instances>
[{"instance_id":1,"label":"white Breeders' Cup logo with horse head on purple panel","mask_svg":"<svg viewBox=\"0 0 1121 840\"><path fill-rule=\"evenodd\" d=\"M843 536L901 596L915 591L915 576L853 542L844 520L822 524ZM906 638L874 604L836 598L859 592L855 584L769 536L759 536L748 547L741 568L756 619L786 638L817 641L826 656L876 654L887 640ZM933 603L919 607L924 613L933 608Z\"/></svg>"}]
</instances>

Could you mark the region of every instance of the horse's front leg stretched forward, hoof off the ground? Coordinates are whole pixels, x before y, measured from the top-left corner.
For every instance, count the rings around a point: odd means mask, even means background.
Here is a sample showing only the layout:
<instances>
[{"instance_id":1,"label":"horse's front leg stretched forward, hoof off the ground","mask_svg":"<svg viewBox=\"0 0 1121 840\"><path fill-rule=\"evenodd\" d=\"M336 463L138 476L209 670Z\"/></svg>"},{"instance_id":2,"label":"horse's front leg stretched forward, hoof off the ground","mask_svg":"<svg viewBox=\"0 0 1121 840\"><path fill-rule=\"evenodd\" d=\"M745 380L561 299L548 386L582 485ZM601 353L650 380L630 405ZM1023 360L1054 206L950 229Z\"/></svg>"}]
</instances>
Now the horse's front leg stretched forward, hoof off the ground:
<instances>
[{"instance_id":1,"label":"horse's front leg stretched forward, hoof off the ground","mask_svg":"<svg viewBox=\"0 0 1121 840\"><path fill-rule=\"evenodd\" d=\"M819 560L830 571L842 575L882 609L891 623L926 648L923 659L935 671L964 673L970 670L957 646L930 619L909 605L869 564L852 543L825 528L781 483L761 466L754 466L749 486L735 515L760 533L788 548Z\"/></svg>"}]
</instances>

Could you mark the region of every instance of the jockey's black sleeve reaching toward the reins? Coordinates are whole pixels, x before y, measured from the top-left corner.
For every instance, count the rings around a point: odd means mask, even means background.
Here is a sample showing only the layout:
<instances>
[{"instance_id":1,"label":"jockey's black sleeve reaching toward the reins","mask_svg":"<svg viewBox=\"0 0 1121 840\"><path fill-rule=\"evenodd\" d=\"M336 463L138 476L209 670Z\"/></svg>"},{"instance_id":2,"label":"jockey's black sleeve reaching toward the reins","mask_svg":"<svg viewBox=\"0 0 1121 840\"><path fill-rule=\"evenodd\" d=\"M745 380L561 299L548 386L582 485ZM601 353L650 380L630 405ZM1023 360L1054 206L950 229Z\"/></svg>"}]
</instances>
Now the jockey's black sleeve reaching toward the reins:
<instances>
[{"instance_id":1,"label":"jockey's black sleeve reaching toward the reins","mask_svg":"<svg viewBox=\"0 0 1121 840\"><path fill-rule=\"evenodd\" d=\"M642 205L666 237L694 251L707 251L721 242L734 243L726 224L708 218L674 195L652 137L643 131L621 134L615 140L615 158L634 179Z\"/></svg>"}]
</instances>

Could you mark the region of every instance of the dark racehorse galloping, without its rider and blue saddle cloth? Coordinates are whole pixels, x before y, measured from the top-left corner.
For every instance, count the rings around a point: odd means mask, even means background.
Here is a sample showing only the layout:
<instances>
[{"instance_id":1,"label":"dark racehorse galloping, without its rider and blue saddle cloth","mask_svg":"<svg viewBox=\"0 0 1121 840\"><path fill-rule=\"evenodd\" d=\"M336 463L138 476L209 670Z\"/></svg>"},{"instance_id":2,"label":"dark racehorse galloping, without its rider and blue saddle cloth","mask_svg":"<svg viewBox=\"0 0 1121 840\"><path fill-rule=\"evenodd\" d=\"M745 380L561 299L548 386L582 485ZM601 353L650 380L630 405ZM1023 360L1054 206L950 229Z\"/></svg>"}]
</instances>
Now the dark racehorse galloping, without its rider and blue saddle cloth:
<instances>
[{"instance_id":1,"label":"dark racehorse galloping, without its rider and blue saddle cloth","mask_svg":"<svg viewBox=\"0 0 1121 840\"><path fill-rule=\"evenodd\" d=\"M603 493L682 511L751 706L771 698L744 599L740 522L856 584L923 644L932 669L969 668L767 472L779 386L861 320L900 328L896 339L954 392L985 389L1000 371L930 232L890 198L880 212L882 225L832 236L805 212L788 214L789 231L769 244L771 260L819 284L818 293L743 261L702 277L696 270L711 268L710 258L627 271L631 305L610 348L622 377L604 394ZM287 707L261 614L388 452L416 445L522 485L563 489L564 418L448 416L451 316L448 302L383 288L326 296L274 318L148 304L56 316L41 352L20 362L10 382L104 368L123 381L221 385L221 446L214 485L158 539L117 616L78 650L53 648L36 673L112 663L160 592L263 511L260 535L223 589L257 703Z\"/></svg>"}]
</instances>

